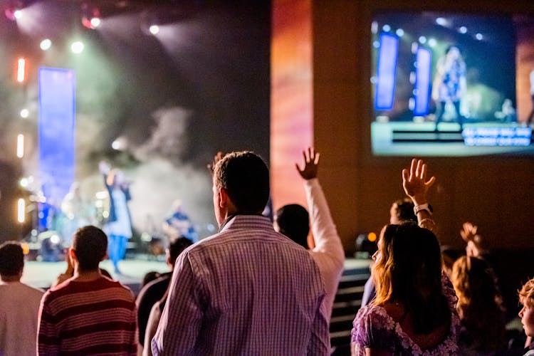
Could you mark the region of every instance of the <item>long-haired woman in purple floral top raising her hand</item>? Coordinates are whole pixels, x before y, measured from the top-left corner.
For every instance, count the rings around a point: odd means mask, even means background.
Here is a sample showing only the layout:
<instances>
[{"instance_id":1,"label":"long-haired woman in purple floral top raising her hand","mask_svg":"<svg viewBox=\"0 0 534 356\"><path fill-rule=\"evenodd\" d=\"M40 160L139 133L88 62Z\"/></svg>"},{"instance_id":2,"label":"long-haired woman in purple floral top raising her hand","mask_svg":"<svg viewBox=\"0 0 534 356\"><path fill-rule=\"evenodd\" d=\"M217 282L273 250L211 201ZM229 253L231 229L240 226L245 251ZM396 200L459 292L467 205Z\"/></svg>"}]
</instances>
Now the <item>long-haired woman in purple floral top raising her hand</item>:
<instances>
[{"instance_id":1,"label":"long-haired woman in purple floral top raising her hand","mask_svg":"<svg viewBox=\"0 0 534 356\"><path fill-rule=\"evenodd\" d=\"M402 171L404 192L414 202L414 222L382 229L373 255L377 295L360 309L352 329L355 355L454 355L459 332L456 296L441 272L441 251L426 194L426 164L413 159ZM421 226L421 227L420 227Z\"/></svg>"}]
</instances>

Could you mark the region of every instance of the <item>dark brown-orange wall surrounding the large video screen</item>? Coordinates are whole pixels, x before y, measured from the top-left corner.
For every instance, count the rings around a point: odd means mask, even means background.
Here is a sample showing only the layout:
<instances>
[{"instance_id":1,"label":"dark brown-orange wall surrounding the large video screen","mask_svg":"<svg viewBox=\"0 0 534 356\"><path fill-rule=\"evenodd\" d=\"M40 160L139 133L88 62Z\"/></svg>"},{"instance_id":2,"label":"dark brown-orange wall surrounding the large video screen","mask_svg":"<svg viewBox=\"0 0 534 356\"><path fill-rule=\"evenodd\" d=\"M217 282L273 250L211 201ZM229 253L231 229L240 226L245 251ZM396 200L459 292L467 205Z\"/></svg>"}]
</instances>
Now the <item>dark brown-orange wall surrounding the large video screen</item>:
<instances>
[{"instance_id":1,"label":"dark brown-orange wall surrounding the large video screen","mask_svg":"<svg viewBox=\"0 0 534 356\"><path fill-rule=\"evenodd\" d=\"M410 157L370 150L370 23L381 9L534 14L534 1L313 1L313 137L320 179L347 253L362 231L379 231L402 197ZM519 84L518 84L519 85ZM438 179L430 201L442 244L463 246L464 221L493 248L534 248L534 157L429 157Z\"/></svg>"}]
</instances>

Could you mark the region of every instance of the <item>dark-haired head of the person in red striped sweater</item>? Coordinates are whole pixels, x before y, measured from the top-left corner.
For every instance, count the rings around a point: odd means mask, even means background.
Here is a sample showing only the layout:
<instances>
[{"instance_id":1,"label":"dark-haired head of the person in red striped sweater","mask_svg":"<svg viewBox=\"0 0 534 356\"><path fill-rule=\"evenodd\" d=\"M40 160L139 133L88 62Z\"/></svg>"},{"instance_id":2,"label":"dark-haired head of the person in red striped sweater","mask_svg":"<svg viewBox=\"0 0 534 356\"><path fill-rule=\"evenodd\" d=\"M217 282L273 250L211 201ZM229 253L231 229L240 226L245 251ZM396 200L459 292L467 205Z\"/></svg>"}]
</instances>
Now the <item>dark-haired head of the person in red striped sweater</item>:
<instances>
[{"instance_id":1,"label":"dark-haired head of the person in red striped sweater","mask_svg":"<svg viewBox=\"0 0 534 356\"><path fill-rule=\"evenodd\" d=\"M80 271L98 270L108 250L108 236L96 226L83 226L73 236L73 250Z\"/></svg>"}]
</instances>

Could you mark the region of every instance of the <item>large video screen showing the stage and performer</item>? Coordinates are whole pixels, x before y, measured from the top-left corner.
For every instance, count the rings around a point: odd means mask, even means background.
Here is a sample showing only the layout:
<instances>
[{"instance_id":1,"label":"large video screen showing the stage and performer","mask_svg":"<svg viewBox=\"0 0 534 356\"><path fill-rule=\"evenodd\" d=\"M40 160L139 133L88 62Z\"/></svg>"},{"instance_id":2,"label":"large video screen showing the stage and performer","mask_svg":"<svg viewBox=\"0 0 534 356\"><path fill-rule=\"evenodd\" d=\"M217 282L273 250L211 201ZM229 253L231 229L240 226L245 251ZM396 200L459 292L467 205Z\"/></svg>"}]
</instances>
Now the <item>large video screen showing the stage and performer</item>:
<instances>
[{"instance_id":1,"label":"large video screen showing the stage and performer","mask_svg":"<svg viewBox=\"0 0 534 356\"><path fill-rule=\"evenodd\" d=\"M374 155L534 155L534 18L384 11L371 33Z\"/></svg>"}]
</instances>

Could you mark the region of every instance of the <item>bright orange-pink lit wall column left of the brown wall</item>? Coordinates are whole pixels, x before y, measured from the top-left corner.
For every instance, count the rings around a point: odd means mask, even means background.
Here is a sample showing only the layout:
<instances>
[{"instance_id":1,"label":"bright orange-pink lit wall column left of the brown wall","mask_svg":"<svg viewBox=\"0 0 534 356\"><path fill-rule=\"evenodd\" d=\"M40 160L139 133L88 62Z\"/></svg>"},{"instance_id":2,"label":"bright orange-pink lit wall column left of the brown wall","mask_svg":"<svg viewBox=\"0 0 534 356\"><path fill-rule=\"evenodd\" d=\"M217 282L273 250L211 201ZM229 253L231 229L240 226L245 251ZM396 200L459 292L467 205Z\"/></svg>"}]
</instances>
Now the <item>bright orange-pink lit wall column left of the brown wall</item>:
<instances>
[{"instance_id":1,"label":"bright orange-pink lit wall column left of the brown wall","mask_svg":"<svg viewBox=\"0 0 534 356\"><path fill-rule=\"evenodd\" d=\"M311 0L274 0L271 42L273 208L305 204L295 162L313 145Z\"/></svg>"}]
</instances>

